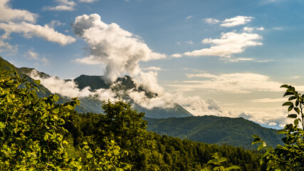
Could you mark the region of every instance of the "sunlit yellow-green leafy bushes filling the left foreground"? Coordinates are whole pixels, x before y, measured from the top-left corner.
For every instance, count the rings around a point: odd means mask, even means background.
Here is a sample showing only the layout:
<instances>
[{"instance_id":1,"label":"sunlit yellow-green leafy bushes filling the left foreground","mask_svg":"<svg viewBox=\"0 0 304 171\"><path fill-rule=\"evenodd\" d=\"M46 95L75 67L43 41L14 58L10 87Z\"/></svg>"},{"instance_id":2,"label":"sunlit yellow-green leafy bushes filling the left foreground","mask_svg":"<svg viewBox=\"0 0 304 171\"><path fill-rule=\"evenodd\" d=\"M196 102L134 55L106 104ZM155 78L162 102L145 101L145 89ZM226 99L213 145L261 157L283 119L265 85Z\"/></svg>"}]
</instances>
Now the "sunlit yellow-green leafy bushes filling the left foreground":
<instances>
[{"instance_id":1,"label":"sunlit yellow-green leafy bushes filling the left foreground","mask_svg":"<svg viewBox=\"0 0 304 171\"><path fill-rule=\"evenodd\" d=\"M65 120L79 102L77 98L58 104L57 95L38 98L36 84L19 78L17 73L1 71L0 75L0 170L91 170L125 168L120 147L115 142L108 149L94 152L85 146L80 150L90 162L68 154ZM108 151L107 151L108 150ZM91 155L90 153L93 153ZM112 155L114 157L108 157ZM92 166L93 162L93 166Z\"/></svg>"}]
</instances>

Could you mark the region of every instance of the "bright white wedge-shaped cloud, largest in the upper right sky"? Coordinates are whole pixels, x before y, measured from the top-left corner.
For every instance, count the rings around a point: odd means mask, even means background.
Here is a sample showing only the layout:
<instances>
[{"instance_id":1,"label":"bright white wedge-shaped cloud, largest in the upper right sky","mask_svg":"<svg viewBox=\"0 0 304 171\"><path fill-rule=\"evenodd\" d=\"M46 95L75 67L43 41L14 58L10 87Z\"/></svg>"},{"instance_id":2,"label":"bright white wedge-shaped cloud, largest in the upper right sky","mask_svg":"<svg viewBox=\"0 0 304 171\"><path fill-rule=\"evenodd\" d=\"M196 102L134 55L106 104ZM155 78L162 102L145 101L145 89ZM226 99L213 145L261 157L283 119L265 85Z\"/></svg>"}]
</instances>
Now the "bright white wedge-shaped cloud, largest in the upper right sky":
<instances>
[{"instance_id":1,"label":"bright white wedge-shaped cloud, largest in the upper right sky","mask_svg":"<svg viewBox=\"0 0 304 171\"><path fill-rule=\"evenodd\" d=\"M211 44L210 48L202 48L184 53L185 56L220 56L231 57L231 54L242 53L249 46L259 46L262 36L256 33L221 33L221 38L205 38L202 43Z\"/></svg>"}]
</instances>

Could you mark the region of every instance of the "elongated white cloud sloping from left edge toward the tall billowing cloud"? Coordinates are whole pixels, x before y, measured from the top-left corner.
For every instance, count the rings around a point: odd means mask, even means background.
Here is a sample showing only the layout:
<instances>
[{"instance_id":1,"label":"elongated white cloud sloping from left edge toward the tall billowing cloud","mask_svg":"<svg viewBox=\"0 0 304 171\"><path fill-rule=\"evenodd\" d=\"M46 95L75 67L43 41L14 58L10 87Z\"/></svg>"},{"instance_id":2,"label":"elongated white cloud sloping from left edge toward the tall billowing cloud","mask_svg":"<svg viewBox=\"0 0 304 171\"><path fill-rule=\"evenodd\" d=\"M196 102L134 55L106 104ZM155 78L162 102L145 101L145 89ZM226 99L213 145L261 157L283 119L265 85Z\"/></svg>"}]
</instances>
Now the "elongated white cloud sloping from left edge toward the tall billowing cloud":
<instances>
[{"instance_id":1,"label":"elongated white cloud sloping from left edge toward the tall billowing cloud","mask_svg":"<svg viewBox=\"0 0 304 171\"><path fill-rule=\"evenodd\" d=\"M4 31L9 31L9 33L23 33L23 36L26 38L31 38L33 36L41 37L46 39L46 41L60 43L63 46L76 41L75 38L71 36L65 36L63 33L58 33L58 31L55 31L48 25L40 26L35 24L29 24L24 21L22 21L21 23L0 23L0 29L3 29Z\"/></svg>"}]
</instances>

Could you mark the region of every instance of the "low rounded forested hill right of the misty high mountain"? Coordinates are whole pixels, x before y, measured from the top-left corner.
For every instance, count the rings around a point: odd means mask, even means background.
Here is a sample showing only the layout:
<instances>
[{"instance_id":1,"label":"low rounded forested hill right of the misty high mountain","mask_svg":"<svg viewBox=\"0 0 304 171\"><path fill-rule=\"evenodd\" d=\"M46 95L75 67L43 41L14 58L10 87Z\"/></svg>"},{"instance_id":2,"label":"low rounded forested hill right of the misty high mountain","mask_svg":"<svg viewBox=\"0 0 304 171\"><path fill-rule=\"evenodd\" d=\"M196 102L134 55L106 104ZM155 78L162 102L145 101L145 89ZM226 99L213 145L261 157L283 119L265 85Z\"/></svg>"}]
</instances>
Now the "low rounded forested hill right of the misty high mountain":
<instances>
[{"instance_id":1,"label":"low rounded forested hill right of the misty high mountain","mask_svg":"<svg viewBox=\"0 0 304 171\"><path fill-rule=\"evenodd\" d=\"M244 118L204 115L186 118L145 118L145 120L148 122L147 130L160 135L246 149L257 149L257 145L251 145L253 141L251 135L259 135L273 147L282 144L281 138L283 138L283 135L277 134L278 130L263 128Z\"/></svg>"}]
</instances>

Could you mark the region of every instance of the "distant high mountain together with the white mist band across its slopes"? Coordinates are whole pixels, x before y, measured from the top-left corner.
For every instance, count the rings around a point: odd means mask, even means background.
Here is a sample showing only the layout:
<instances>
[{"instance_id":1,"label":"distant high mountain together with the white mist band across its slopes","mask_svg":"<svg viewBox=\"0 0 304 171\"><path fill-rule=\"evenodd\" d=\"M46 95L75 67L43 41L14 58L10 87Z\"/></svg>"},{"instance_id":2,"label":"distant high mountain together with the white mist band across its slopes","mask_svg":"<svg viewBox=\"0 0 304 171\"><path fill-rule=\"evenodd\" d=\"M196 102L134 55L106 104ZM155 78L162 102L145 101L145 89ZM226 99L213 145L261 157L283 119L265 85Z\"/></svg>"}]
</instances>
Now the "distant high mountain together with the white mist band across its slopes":
<instances>
[{"instance_id":1,"label":"distant high mountain together with the white mist band across its slopes","mask_svg":"<svg viewBox=\"0 0 304 171\"><path fill-rule=\"evenodd\" d=\"M181 105L174 103L171 108L144 108L130 98L130 93L139 93L145 98L155 98L157 93L144 90L130 76L117 78L113 83L105 81L103 76L85 76L81 75L73 80L60 80L57 77L49 76L46 73L36 71L34 68L16 68L14 65L1 58L1 63L7 69L16 70L21 76L31 81L32 78L40 79L41 85L38 86L39 97L46 97L56 93L60 97L60 102L66 102L70 97L78 97L80 105L76 107L79 113L102 113L102 100L117 99L127 100L133 107L140 112L145 112L149 118L170 118L192 116ZM43 86L47 84L49 88Z\"/></svg>"}]
</instances>

